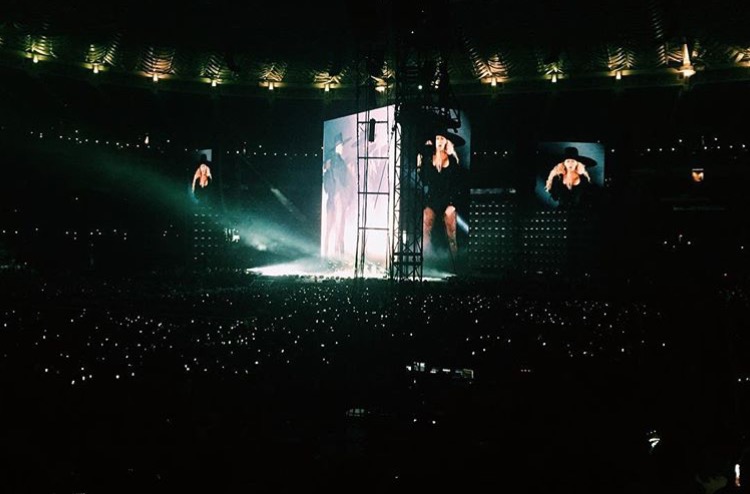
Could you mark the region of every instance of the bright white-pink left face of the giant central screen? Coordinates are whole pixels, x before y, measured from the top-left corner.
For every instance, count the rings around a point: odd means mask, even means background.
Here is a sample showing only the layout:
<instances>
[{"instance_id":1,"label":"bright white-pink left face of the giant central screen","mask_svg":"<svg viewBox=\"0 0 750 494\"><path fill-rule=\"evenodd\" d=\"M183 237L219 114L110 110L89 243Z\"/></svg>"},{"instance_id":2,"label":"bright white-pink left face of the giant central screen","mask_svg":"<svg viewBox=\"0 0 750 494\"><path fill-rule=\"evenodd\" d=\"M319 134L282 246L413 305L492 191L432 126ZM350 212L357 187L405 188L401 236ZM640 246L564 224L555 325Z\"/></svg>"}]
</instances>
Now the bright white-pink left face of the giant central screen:
<instances>
[{"instance_id":1,"label":"bright white-pink left face of the giant central screen","mask_svg":"<svg viewBox=\"0 0 750 494\"><path fill-rule=\"evenodd\" d=\"M327 120L323 127L320 254L385 266L392 231L394 106ZM362 227L362 228L360 228Z\"/></svg>"}]
</instances>

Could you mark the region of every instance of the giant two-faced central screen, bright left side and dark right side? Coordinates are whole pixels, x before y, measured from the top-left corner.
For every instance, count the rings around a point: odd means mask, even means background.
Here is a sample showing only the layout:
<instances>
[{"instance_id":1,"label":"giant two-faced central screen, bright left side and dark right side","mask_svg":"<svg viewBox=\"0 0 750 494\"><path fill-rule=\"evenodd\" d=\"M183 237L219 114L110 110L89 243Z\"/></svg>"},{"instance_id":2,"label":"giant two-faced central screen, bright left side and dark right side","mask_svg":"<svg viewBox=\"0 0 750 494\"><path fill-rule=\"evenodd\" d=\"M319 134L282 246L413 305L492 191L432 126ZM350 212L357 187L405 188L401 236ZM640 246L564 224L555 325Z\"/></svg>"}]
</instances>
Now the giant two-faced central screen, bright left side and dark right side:
<instances>
[{"instance_id":1,"label":"giant two-faced central screen, bright left side and dark right side","mask_svg":"<svg viewBox=\"0 0 750 494\"><path fill-rule=\"evenodd\" d=\"M394 194L393 190L394 124L393 105L324 122L323 259L354 263L357 249L364 244L366 263L383 268L387 265L393 244L394 210L400 210L393 201L405 193ZM462 114L458 128L427 124L404 132L416 136L416 155L408 155L416 160L424 191L424 203L419 205L423 213L424 263L455 271L462 247L468 247L468 121Z\"/></svg>"}]
</instances>

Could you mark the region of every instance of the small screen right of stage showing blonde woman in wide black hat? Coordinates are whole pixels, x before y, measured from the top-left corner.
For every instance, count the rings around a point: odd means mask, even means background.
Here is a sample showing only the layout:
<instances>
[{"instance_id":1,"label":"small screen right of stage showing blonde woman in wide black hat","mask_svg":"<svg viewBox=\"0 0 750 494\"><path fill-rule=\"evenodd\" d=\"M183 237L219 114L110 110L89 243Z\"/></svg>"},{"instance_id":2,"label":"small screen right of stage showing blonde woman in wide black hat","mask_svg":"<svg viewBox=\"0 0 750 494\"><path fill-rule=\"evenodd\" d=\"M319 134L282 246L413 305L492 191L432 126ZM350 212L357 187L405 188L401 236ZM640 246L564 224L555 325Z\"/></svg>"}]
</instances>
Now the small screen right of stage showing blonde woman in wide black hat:
<instances>
[{"instance_id":1,"label":"small screen right of stage showing blonde woman in wide black hat","mask_svg":"<svg viewBox=\"0 0 750 494\"><path fill-rule=\"evenodd\" d=\"M595 203L604 187L604 145L543 142L538 147L536 196L550 209Z\"/></svg>"}]
</instances>

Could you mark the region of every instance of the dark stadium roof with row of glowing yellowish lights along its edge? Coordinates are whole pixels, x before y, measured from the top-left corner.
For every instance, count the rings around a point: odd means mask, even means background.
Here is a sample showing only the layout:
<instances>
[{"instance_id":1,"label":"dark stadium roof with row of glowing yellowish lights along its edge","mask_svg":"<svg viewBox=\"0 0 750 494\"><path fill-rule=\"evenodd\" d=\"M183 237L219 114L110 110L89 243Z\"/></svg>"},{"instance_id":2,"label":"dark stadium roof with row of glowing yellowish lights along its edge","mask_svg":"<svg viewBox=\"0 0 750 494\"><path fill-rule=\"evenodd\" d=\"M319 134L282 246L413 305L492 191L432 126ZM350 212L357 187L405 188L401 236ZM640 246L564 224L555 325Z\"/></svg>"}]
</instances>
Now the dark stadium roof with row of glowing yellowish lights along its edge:
<instances>
[{"instance_id":1,"label":"dark stadium roof with row of glowing yellowish lights along its edge","mask_svg":"<svg viewBox=\"0 0 750 494\"><path fill-rule=\"evenodd\" d=\"M445 77L441 66L457 94L545 91L553 79L556 88L585 89L750 76L750 9L736 0L79 0L4 10L3 65L158 79L165 89L215 84L261 94L273 85L314 98L368 84L434 84Z\"/></svg>"}]
</instances>

